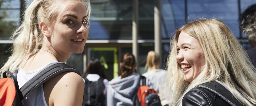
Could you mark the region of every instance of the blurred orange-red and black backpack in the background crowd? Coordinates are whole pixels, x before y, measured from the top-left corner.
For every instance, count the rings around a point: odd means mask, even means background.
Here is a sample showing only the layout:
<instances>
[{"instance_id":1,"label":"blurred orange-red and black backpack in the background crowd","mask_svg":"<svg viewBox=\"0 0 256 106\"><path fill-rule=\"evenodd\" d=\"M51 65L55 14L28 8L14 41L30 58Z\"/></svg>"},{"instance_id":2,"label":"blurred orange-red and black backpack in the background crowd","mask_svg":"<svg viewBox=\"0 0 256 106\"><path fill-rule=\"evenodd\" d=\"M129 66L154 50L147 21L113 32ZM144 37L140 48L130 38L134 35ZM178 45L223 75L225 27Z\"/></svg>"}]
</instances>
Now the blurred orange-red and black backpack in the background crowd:
<instances>
[{"instance_id":1,"label":"blurred orange-red and black backpack in the background crowd","mask_svg":"<svg viewBox=\"0 0 256 106\"><path fill-rule=\"evenodd\" d=\"M133 106L162 106L157 92L146 86L145 76L141 76L141 81L142 86L133 97Z\"/></svg>"}]
</instances>

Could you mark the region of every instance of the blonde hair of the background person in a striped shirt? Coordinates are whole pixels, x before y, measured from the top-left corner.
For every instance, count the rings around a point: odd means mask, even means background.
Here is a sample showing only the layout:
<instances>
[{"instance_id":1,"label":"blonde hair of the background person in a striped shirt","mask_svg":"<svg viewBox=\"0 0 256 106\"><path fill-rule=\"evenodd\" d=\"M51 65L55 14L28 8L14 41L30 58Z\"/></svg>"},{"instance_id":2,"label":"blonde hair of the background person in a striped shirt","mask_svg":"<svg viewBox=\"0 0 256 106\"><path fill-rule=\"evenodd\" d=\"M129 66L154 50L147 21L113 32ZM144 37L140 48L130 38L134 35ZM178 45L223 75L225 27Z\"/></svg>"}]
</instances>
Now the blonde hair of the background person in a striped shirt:
<instances>
[{"instance_id":1,"label":"blonde hair of the background person in a striped shirt","mask_svg":"<svg viewBox=\"0 0 256 106\"><path fill-rule=\"evenodd\" d=\"M145 67L148 67L148 72L149 72L150 70L158 69L159 67L157 67L157 66L159 64L160 64L160 57L159 57L159 55L156 52L151 50L148 53L147 63L146 63Z\"/></svg>"}]
</instances>

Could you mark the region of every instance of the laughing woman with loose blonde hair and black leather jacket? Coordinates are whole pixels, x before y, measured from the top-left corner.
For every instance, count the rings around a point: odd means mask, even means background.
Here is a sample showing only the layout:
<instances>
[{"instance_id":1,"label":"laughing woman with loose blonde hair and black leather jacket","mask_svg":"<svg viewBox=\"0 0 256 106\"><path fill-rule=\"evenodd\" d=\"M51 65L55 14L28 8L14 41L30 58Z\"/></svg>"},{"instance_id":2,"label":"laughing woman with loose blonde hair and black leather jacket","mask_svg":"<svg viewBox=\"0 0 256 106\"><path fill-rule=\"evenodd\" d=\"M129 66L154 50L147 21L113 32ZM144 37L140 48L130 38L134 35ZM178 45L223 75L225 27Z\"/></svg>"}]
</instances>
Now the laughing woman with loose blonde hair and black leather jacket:
<instances>
[{"instance_id":1,"label":"laughing woman with loose blonde hair and black leather jacket","mask_svg":"<svg viewBox=\"0 0 256 106\"><path fill-rule=\"evenodd\" d=\"M167 70L161 92L170 98L170 106L230 106L222 98L228 92L238 105L256 105L255 68L220 20L195 20L179 28L171 42ZM213 82L228 92L218 95L201 87Z\"/></svg>"}]
</instances>

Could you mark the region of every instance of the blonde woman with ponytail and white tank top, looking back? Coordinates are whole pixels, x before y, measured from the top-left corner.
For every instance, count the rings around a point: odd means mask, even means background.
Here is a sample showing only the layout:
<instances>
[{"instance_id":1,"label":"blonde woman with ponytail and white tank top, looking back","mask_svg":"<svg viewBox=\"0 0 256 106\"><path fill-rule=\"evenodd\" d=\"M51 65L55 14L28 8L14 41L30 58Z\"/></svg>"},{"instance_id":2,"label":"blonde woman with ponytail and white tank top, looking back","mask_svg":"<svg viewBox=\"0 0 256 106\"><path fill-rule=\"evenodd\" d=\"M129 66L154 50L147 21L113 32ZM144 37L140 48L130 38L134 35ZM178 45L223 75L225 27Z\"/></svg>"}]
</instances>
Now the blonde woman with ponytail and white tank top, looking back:
<instances>
[{"instance_id":1,"label":"blonde woman with ponytail and white tank top, looking back","mask_svg":"<svg viewBox=\"0 0 256 106\"><path fill-rule=\"evenodd\" d=\"M21 26L14 31L12 55L0 74L11 71L17 75L21 87L46 66L65 62L72 53L82 53L90 11L89 0L33 0ZM26 106L82 105L84 82L74 72L64 72L48 80L42 94L39 88L23 100Z\"/></svg>"}]
</instances>

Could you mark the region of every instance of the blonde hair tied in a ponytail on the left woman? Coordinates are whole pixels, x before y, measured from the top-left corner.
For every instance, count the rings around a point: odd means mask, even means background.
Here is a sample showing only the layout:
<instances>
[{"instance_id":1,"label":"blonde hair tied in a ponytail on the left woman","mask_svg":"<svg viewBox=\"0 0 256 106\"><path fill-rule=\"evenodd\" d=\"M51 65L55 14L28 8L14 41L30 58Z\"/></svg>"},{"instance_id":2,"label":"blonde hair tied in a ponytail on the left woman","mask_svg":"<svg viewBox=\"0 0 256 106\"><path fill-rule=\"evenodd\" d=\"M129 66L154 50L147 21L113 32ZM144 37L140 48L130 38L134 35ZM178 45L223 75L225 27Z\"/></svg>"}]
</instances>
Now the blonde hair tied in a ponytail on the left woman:
<instances>
[{"instance_id":1,"label":"blonde hair tied in a ponytail on the left woman","mask_svg":"<svg viewBox=\"0 0 256 106\"><path fill-rule=\"evenodd\" d=\"M29 57L36 54L42 46L43 34L39 28L39 23L44 22L53 29L53 24L57 21L58 15L65 12L60 10L59 4L69 0L33 0L24 13L24 21L21 26L14 31L11 40L15 40L12 47L12 55L5 65L0 69L0 75L6 70L14 72L22 66ZM73 1L73 0L72 0ZM71 0L69 2L72 2ZM87 9L86 30L89 28L90 0L79 0Z\"/></svg>"}]
</instances>

